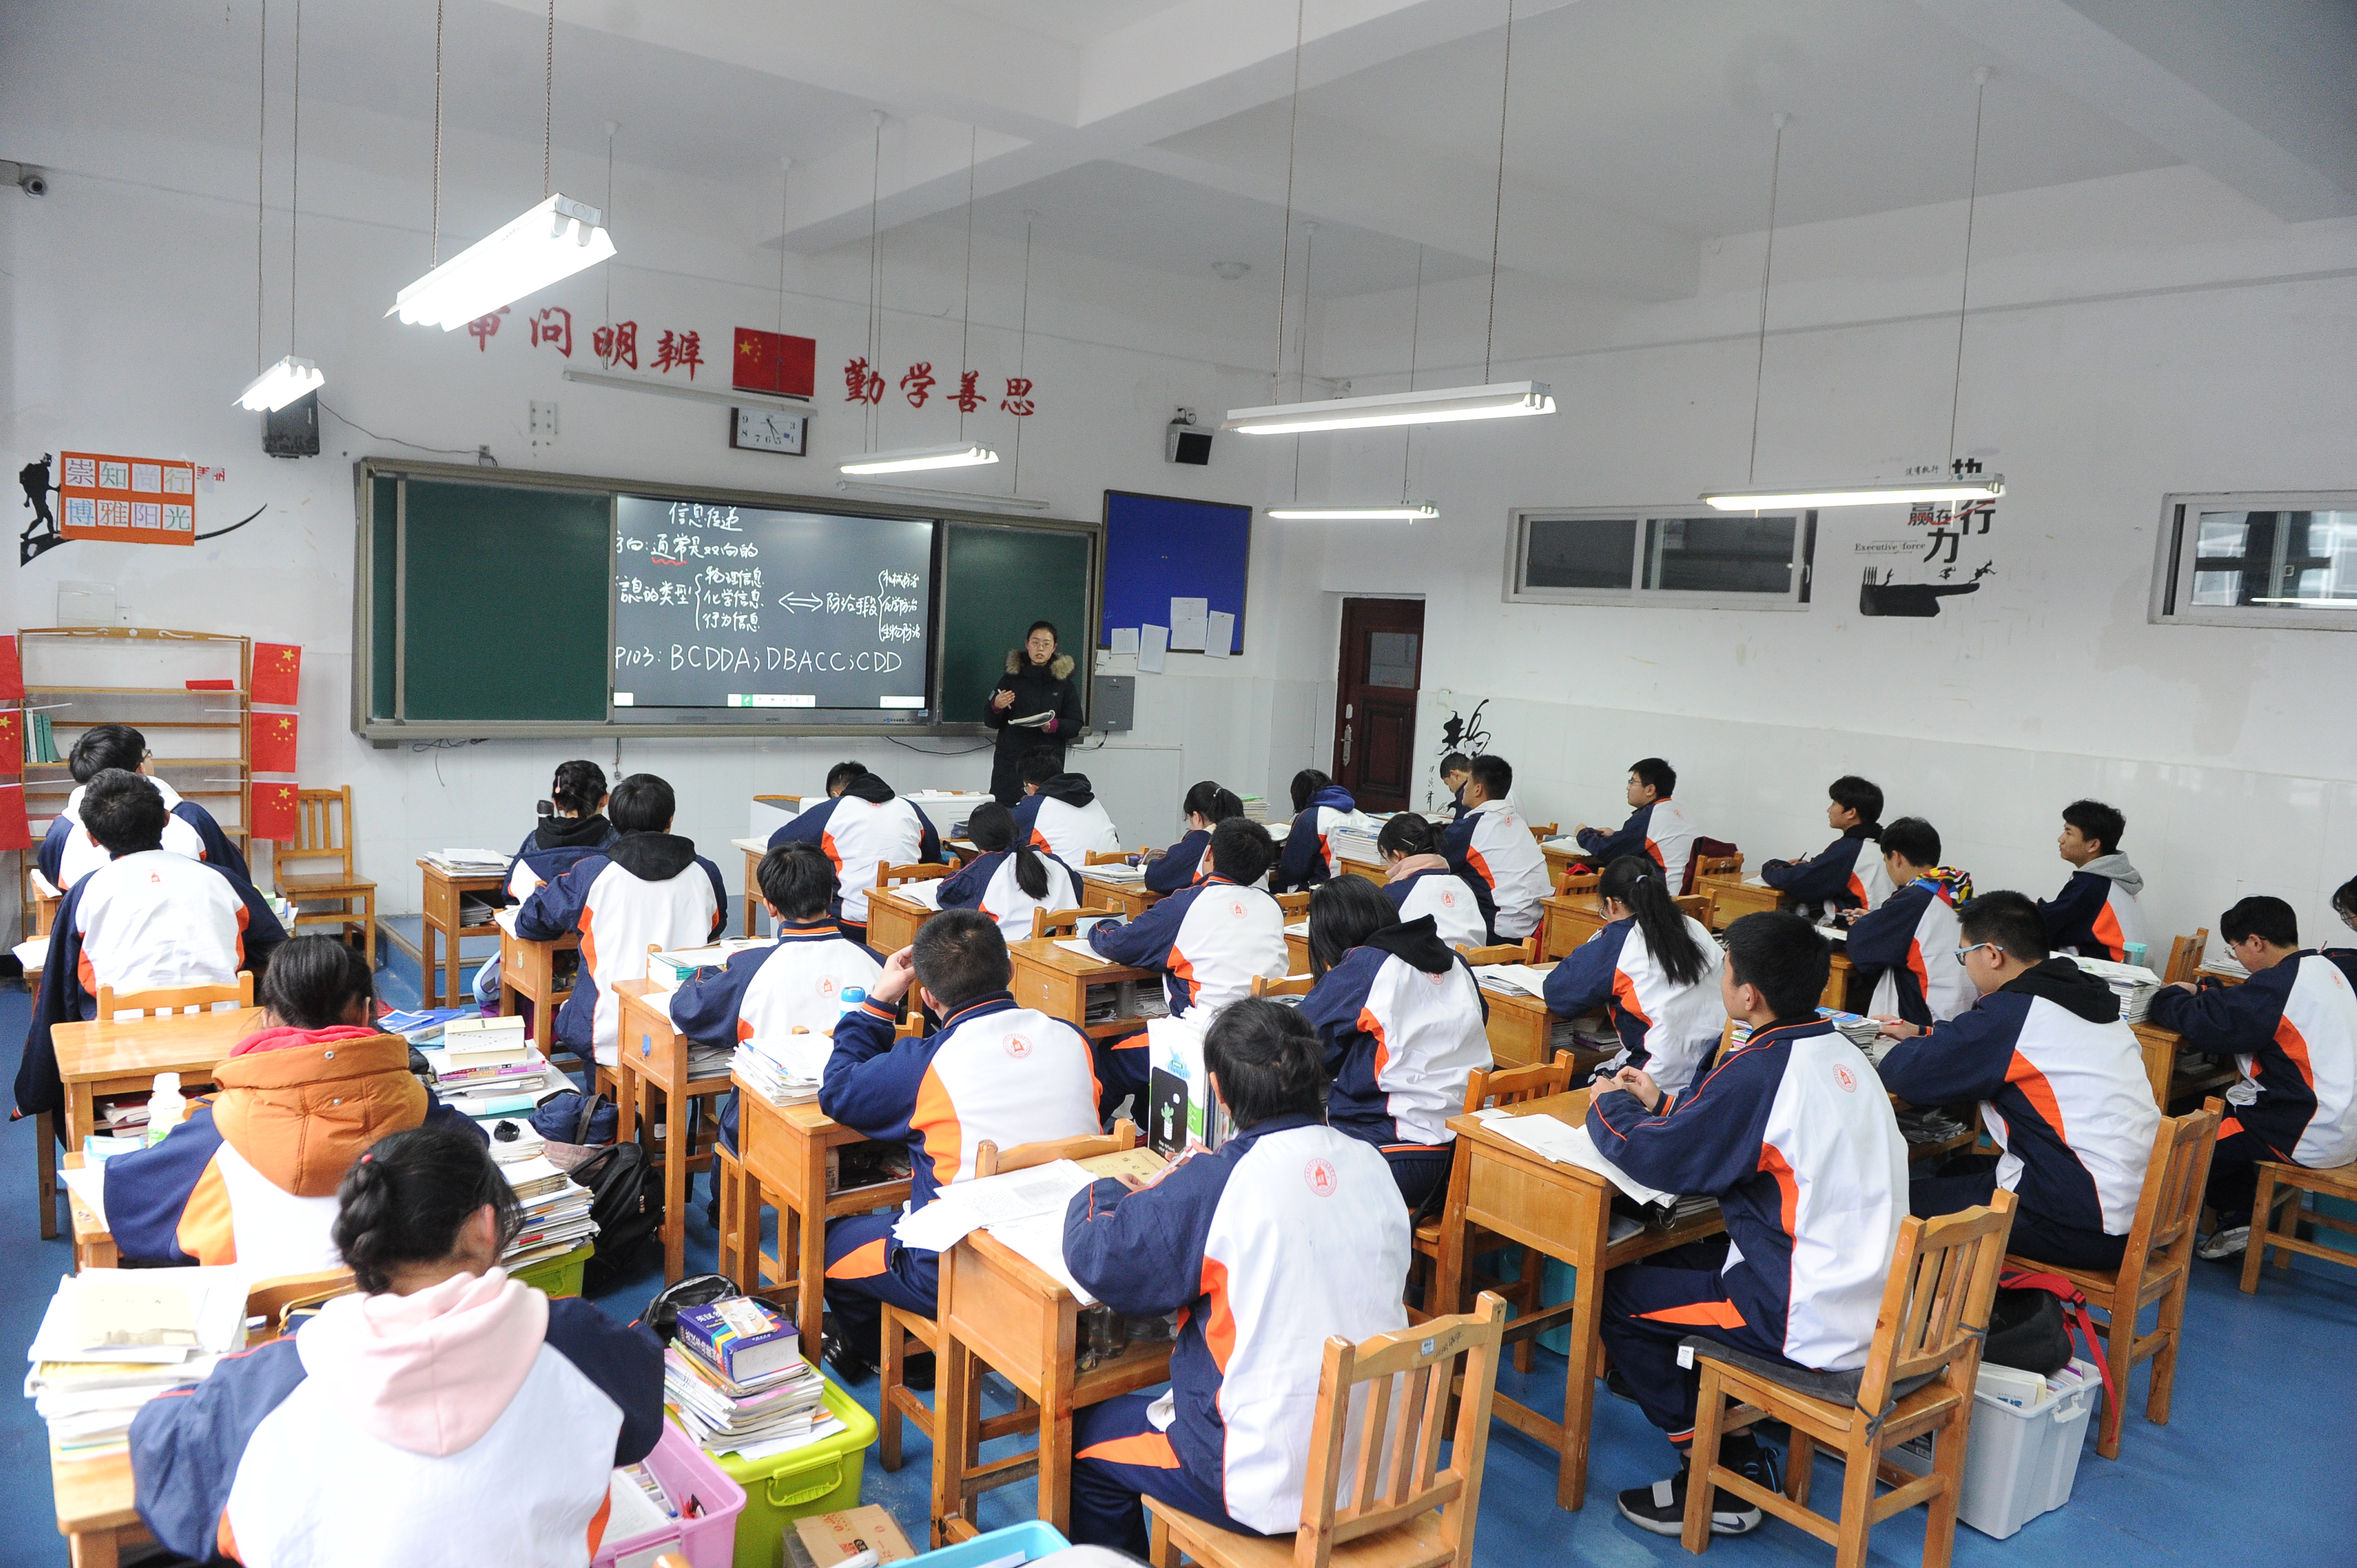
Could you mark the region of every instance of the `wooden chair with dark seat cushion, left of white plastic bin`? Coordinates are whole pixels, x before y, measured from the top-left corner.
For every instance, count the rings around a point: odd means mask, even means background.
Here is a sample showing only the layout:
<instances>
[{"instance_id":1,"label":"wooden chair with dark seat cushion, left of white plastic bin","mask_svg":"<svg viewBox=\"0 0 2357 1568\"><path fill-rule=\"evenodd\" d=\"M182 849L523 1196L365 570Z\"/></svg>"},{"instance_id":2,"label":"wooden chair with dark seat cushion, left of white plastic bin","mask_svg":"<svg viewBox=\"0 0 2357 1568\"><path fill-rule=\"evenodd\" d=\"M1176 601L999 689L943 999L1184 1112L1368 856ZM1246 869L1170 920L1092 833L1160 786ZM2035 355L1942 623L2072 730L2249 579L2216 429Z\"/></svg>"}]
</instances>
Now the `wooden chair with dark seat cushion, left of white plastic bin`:
<instances>
[{"instance_id":1,"label":"wooden chair with dark seat cushion, left of white plastic bin","mask_svg":"<svg viewBox=\"0 0 2357 1568\"><path fill-rule=\"evenodd\" d=\"M2011 1231L2013 1193L2006 1191L1994 1193L1985 1210L1900 1221L1874 1344L1867 1365L1855 1372L1782 1368L1709 1339L1688 1339L1702 1368L1702 1396L1695 1469L1685 1488L1685 1549L1711 1544L1711 1490L1723 1488L1829 1542L1838 1568L1867 1561L1867 1533L1876 1523L1926 1502L1923 1563L1945 1566L1956 1544L1980 1337L1989 1327ZM1742 1401L1735 1410L1725 1408L1730 1396ZM1765 1419L1791 1427L1782 1493L1718 1464L1725 1434ZM1926 1431L1935 1434L1928 1476L1883 1460ZM1838 1521L1808 1507L1820 1443L1838 1450L1846 1467ZM1890 1490L1876 1497L1876 1483Z\"/></svg>"}]
</instances>

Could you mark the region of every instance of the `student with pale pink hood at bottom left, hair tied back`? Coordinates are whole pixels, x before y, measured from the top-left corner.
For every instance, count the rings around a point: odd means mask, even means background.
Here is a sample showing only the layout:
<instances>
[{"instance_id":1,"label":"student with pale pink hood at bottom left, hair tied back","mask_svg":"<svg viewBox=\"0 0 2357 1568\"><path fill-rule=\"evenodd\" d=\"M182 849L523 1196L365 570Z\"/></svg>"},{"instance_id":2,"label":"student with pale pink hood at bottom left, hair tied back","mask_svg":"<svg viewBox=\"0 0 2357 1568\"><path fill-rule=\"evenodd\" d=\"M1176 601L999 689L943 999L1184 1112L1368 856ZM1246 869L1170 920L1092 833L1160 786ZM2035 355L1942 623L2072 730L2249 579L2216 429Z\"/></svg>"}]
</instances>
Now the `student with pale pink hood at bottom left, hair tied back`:
<instances>
[{"instance_id":1,"label":"student with pale pink hood at bottom left, hair tied back","mask_svg":"<svg viewBox=\"0 0 2357 1568\"><path fill-rule=\"evenodd\" d=\"M662 1346L509 1278L521 1226L467 1132L363 1153L332 1231L361 1294L132 1417L156 1540L257 1568L587 1563L615 1467L662 1436Z\"/></svg>"}]
</instances>

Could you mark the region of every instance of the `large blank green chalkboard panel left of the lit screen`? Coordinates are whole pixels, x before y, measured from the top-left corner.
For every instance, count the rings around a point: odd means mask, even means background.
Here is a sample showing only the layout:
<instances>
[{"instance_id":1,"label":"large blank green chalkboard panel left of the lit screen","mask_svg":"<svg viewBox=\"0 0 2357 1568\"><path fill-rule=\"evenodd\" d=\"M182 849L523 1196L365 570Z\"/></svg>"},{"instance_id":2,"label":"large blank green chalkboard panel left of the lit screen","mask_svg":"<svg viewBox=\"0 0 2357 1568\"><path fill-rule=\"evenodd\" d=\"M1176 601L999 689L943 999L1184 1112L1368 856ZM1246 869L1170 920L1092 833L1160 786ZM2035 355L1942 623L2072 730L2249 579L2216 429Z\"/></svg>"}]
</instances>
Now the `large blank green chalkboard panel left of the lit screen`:
<instances>
[{"instance_id":1,"label":"large blank green chalkboard panel left of the lit screen","mask_svg":"<svg viewBox=\"0 0 2357 1568\"><path fill-rule=\"evenodd\" d=\"M403 719L606 719L613 502L405 481Z\"/></svg>"}]
</instances>

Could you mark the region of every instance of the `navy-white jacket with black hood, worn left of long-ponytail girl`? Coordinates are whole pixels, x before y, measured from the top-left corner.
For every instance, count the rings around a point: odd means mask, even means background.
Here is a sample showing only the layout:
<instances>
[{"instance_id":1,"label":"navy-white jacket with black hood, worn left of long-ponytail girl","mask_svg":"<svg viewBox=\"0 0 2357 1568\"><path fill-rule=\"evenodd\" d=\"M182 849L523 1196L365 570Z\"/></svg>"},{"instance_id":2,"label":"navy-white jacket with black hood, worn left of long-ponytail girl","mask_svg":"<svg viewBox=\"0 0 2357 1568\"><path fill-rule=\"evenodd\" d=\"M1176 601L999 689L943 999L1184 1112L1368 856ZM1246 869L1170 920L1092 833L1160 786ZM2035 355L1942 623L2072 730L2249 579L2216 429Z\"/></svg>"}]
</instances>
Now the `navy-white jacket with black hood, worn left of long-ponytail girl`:
<instances>
[{"instance_id":1,"label":"navy-white jacket with black hood, worn left of long-ponytail girl","mask_svg":"<svg viewBox=\"0 0 2357 1568\"><path fill-rule=\"evenodd\" d=\"M1466 1080L1490 1066L1490 1004L1433 917L1384 927L1301 997L1318 1030L1327 1125L1386 1153L1431 1153L1457 1134Z\"/></svg>"}]
</instances>

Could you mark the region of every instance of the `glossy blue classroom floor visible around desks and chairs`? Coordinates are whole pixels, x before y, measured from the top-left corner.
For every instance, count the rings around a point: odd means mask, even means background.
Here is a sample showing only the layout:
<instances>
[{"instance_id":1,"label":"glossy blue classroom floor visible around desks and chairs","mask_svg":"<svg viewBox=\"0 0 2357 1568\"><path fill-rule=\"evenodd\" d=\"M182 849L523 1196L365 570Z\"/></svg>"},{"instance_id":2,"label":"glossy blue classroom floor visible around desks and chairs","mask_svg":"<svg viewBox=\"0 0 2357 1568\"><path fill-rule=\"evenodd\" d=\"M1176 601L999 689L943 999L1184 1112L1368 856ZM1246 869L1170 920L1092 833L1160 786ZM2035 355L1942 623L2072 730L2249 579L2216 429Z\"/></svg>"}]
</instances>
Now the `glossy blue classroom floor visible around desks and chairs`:
<instances>
[{"instance_id":1,"label":"glossy blue classroom floor visible around desks and chairs","mask_svg":"<svg viewBox=\"0 0 2357 1568\"><path fill-rule=\"evenodd\" d=\"M415 1000L415 967L394 960L382 979L384 1000ZM28 997L0 990L0 1037L21 1037ZM0 1191L31 1193L31 1125L14 1122L0 1148ZM71 1269L66 1240L38 1240L33 1205L0 1203L0 1247L16 1280L0 1294L0 1335L26 1344L40 1323L59 1273ZM714 1236L702 1203L688 1212L688 1269L707 1271ZM634 1318L658 1290L643 1278L601 1304ZM2053 1563L2201 1563L2204 1568L2277 1568L2282 1563L2350 1563L2350 1526L2341 1504L2357 1476L2357 1271L2298 1259L2289 1273L2267 1269L2258 1297L2237 1290L2237 1271L2199 1264L2185 1309L2190 1349L2178 1365L2176 1412L2168 1427L2145 1424L2145 1375L2138 1372L2121 1457L2102 1460L2088 1445L2072 1502L2034 1518L2011 1540L1956 1530L1954 1561L1975 1566ZM1499 1379L1508 1394L1549 1412L1563 1408L1563 1358L1539 1353L1530 1377L1511 1368ZM851 1389L874 1410L870 1377ZM1004 1384L995 1389L1004 1396ZM985 1394L988 1398L988 1394ZM997 1403L1004 1408L1004 1398ZM2093 1431L2093 1427L2091 1427ZM1018 1448L1028 1438L1006 1438ZM990 1457L1002 1445L988 1450ZM922 1434L905 1438L907 1462L884 1474L867 1455L865 1502L889 1507L910 1540L924 1542L931 1450ZM1475 1561L1485 1568L1525 1563L1683 1563L1676 1540L1645 1535L1612 1509L1612 1493L1669 1471L1669 1448L1633 1405L1598 1391L1589 1462L1589 1504L1579 1514L1556 1507L1556 1462L1506 1427L1490 1436ZM0 1401L0 1563L64 1563L54 1533L47 1476L47 1434L31 1401ZM1817 1502L1838 1497L1838 1469L1817 1476ZM990 1493L983 1526L1028 1518L1030 1483ZM1831 1547L1770 1521L1744 1540L1721 1540L1714 1561L1831 1563ZM1923 1511L1902 1514L1874 1530L1871 1561L1923 1561Z\"/></svg>"}]
</instances>

